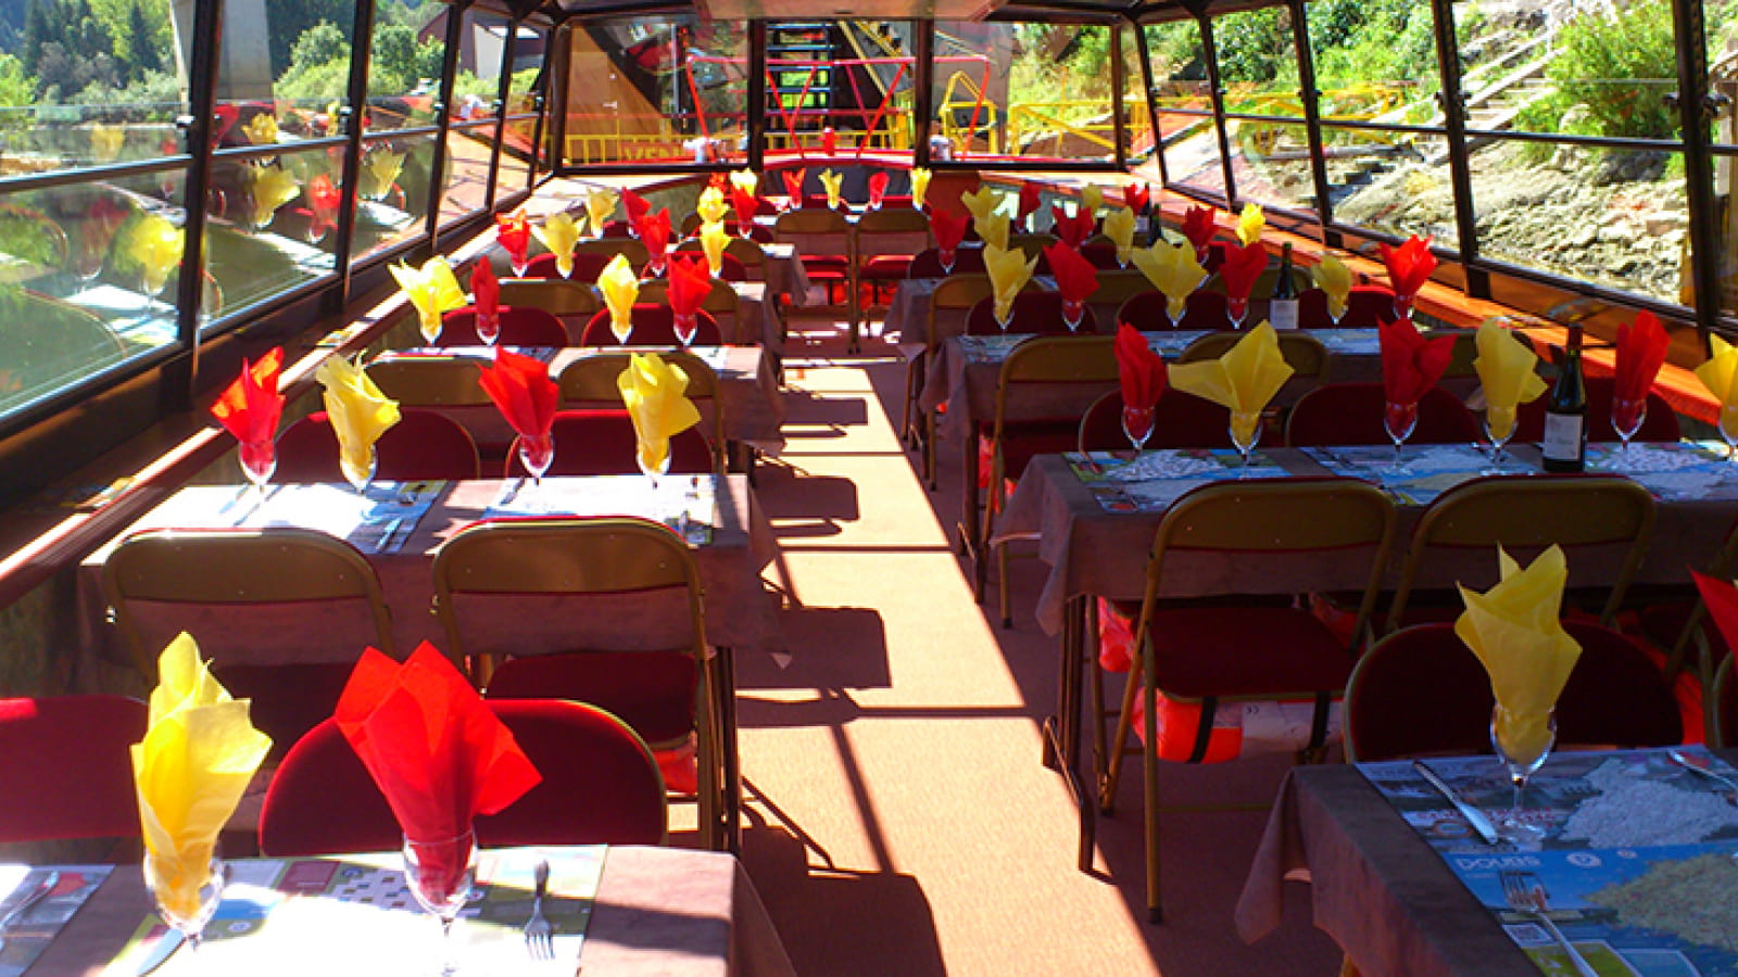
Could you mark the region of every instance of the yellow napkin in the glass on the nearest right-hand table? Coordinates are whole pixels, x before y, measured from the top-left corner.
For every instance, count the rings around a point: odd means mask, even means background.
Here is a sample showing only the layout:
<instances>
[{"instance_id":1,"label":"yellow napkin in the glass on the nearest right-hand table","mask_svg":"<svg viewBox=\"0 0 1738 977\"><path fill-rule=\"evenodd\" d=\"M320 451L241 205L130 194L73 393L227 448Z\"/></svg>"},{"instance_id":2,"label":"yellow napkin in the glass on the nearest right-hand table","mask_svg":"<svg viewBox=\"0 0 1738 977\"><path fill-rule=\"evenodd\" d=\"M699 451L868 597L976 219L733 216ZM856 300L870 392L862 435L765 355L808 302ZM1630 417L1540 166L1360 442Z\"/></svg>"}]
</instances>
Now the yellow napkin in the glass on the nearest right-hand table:
<instances>
[{"instance_id":1,"label":"yellow napkin in the glass on the nearest right-hand table","mask_svg":"<svg viewBox=\"0 0 1738 977\"><path fill-rule=\"evenodd\" d=\"M1526 570L1502 548L1496 560L1502 582L1484 593L1460 588L1467 610L1455 621L1455 635L1491 676L1503 753L1524 763L1550 748L1550 709L1582 657L1582 645L1559 621L1562 584L1569 577L1562 549L1552 546Z\"/></svg>"}]
</instances>

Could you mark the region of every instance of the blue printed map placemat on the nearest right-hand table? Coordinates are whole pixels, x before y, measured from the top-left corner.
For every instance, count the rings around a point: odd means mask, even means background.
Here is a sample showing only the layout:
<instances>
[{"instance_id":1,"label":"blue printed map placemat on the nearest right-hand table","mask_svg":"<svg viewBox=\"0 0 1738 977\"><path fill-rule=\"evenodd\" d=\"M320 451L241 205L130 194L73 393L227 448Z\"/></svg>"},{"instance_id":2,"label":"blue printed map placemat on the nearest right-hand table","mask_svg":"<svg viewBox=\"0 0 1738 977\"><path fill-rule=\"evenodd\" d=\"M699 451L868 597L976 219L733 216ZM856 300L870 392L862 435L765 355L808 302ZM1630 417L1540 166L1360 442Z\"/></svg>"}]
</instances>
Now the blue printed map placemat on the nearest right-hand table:
<instances>
[{"instance_id":1,"label":"blue printed map placemat on the nearest right-hand table","mask_svg":"<svg viewBox=\"0 0 1738 977\"><path fill-rule=\"evenodd\" d=\"M1702 748L1682 753L1738 777ZM1429 763L1493 821L1510 814L1496 758ZM1505 873L1543 887L1550 920L1602 977L1738 975L1738 807L1667 751L1550 754L1524 801L1524 821L1545 829L1531 845L1486 845L1410 761L1357 767L1542 972L1575 968L1535 916L1510 909Z\"/></svg>"}]
</instances>

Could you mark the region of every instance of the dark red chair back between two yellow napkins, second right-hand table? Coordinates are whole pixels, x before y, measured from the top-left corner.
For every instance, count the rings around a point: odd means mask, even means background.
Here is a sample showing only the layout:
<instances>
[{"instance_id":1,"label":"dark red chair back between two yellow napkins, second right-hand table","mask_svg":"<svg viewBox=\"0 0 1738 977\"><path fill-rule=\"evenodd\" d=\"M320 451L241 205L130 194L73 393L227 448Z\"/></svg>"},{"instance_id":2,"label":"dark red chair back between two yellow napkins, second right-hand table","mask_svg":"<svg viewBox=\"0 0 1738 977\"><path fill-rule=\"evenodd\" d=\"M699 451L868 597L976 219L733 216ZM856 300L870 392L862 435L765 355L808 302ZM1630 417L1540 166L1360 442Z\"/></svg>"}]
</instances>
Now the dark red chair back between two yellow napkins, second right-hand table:
<instances>
[{"instance_id":1,"label":"dark red chair back between two yellow napkins, second right-hand table","mask_svg":"<svg viewBox=\"0 0 1738 977\"><path fill-rule=\"evenodd\" d=\"M1291 405L1286 445L1387 445L1382 417L1387 393L1380 382L1323 384ZM1434 386L1418 400L1418 424L1408 443L1453 445L1479 440L1479 419L1455 395Z\"/></svg>"}]
</instances>

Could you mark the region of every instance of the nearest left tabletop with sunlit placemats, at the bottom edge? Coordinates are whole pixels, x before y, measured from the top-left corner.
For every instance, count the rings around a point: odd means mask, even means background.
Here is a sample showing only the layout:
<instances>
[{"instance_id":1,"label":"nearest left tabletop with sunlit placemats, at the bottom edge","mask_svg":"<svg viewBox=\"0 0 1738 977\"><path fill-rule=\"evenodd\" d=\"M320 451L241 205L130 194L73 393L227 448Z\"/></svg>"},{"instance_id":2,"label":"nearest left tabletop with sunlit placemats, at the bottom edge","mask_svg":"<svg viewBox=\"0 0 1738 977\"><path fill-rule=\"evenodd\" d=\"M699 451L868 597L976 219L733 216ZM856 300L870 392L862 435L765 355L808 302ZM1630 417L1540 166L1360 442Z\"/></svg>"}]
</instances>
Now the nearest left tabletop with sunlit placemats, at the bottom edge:
<instances>
[{"instance_id":1,"label":"nearest left tabletop with sunlit placemats, at the bottom edge","mask_svg":"<svg viewBox=\"0 0 1738 977\"><path fill-rule=\"evenodd\" d=\"M549 866L547 958L534 956L523 935L539 861ZM47 899L7 927L0 974L424 974L443 958L459 975L794 974L742 864L721 852L483 850L448 942L410 895L396 852L231 859L226 873L222 902L189 949L158 918L137 864L0 866L0 916L52 883Z\"/></svg>"}]
</instances>

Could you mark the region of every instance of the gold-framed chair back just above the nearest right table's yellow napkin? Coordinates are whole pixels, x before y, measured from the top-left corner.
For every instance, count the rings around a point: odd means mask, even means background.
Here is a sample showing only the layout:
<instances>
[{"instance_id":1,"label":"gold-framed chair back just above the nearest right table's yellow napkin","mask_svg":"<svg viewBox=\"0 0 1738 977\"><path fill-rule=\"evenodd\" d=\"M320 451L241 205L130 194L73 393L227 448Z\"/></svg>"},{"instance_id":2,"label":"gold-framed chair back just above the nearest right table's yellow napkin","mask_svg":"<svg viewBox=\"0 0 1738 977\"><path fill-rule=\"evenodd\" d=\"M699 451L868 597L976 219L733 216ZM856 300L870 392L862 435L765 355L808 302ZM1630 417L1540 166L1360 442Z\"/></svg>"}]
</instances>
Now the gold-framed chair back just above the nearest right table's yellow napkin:
<instances>
[{"instance_id":1,"label":"gold-framed chair back just above the nearest right table's yellow napkin","mask_svg":"<svg viewBox=\"0 0 1738 977\"><path fill-rule=\"evenodd\" d=\"M1406 601L1430 549L1467 546L1486 555L1503 546L1517 558L1521 551L1552 544L1622 548L1611 596L1601 614L1609 624L1648 551L1653 520L1653 495L1627 478L1498 475L1463 482L1437 495L1418 518L1389 608L1389 629L1404 621ZM1496 562L1489 563L1495 577Z\"/></svg>"}]
</instances>

